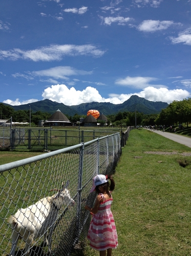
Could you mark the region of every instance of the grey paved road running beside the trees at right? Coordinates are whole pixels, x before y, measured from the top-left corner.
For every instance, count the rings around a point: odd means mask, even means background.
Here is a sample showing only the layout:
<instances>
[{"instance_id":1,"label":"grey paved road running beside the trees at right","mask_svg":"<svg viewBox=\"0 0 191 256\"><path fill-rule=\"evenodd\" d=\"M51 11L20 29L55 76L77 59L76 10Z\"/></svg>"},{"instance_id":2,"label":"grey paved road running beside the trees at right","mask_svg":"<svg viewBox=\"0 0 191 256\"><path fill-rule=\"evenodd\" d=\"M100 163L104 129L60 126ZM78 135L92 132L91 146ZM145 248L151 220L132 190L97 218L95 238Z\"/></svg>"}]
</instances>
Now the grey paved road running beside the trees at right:
<instances>
[{"instance_id":1,"label":"grey paved road running beside the trees at right","mask_svg":"<svg viewBox=\"0 0 191 256\"><path fill-rule=\"evenodd\" d=\"M164 136L165 138L174 140L180 144L186 145L187 147L191 148L191 138L182 136L182 135L178 135L176 133L166 133L166 132L162 132L162 131L153 131L155 133L158 133L162 136Z\"/></svg>"}]
</instances>

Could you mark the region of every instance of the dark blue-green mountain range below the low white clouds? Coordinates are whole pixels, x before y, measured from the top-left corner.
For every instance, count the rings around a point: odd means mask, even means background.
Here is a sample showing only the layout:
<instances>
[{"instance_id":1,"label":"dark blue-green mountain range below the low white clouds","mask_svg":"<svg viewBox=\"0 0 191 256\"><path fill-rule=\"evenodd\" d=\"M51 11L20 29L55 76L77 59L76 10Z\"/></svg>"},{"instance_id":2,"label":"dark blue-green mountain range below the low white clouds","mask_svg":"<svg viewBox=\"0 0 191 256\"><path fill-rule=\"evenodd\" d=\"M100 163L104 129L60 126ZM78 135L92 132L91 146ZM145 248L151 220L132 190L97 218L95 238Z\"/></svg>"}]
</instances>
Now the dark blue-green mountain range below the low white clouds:
<instances>
[{"instance_id":1,"label":"dark blue-green mountain range below the low white clouds","mask_svg":"<svg viewBox=\"0 0 191 256\"><path fill-rule=\"evenodd\" d=\"M6 103L3 104L9 105ZM153 102L133 95L121 104L113 104L110 102L89 102L81 103L79 105L67 106L63 103L58 103L55 101L45 99L18 106L9 106L14 108L15 111L29 110L29 108L31 107L31 111L33 113L41 111L53 114L59 109L63 114L68 116L74 116L75 114L87 115L87 112L90 109L96 109L99 111L100 114L104 114L107 116L116 115L118 112L134 112L135 109L137 112L143 114L158 114L161 112L161 109L166 108L168 106L168 103L161 101Z\"/></svg>"}]
</instances>

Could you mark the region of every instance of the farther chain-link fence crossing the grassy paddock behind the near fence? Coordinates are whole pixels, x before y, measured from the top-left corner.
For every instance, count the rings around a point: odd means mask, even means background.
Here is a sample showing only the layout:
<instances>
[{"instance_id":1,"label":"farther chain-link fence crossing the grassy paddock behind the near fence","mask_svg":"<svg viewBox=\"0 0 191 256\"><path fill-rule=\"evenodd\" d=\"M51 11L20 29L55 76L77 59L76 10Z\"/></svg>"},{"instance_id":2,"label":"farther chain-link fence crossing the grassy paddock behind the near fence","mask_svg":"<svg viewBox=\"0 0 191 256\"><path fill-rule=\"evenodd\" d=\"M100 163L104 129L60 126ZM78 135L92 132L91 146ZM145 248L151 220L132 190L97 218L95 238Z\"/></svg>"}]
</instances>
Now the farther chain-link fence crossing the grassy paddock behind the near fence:
<instances>
[{"instance_id":1,"label":"farther chain-link fence crossing the grassy paddock behind the near fence","mask_svg":"<svg viewBox=\"0 0 191 256\"><path fill-rule=\"evenodd\" d=\"M120 129L0 129L0 148L57 150L120 132Z\"/></svg>"}]
</instances>

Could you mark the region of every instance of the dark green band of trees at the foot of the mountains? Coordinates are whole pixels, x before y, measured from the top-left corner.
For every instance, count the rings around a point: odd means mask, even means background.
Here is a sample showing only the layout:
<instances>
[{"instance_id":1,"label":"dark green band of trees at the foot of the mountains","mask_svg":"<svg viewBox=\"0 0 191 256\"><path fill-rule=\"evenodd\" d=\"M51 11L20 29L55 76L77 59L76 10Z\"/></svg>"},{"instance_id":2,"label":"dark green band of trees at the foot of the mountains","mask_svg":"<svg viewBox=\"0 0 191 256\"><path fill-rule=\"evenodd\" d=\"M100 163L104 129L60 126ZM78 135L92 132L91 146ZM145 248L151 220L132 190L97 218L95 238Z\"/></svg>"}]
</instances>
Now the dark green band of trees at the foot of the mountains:
<instances>
[{"instance_id":1,"label":"dark green band of trees at the foot of the mountains","mask_svg":"<svg viewBox=\"0 0 191 256\"><path fill-rule=\"evenodd\" d=\"M64 113L63 113L64 114ZM30 110L18 110L0 103L1 119L9 119L12 116L13 122L29 122ZM52 114L37 111L31 111L31 125L38 125L40 120L48 120ZM80 118L86 115L74 116L66 115L71 122L79 122ZM108 125L114 126L135 126L136 125L175 125L191 122L191 98L182 101L173 101L166 108L162 109L159 114L146 115L140 112L119 112L116 115L107 116ZM104 123L104 121L102 121Z\"/></svg>"}]
</instances>

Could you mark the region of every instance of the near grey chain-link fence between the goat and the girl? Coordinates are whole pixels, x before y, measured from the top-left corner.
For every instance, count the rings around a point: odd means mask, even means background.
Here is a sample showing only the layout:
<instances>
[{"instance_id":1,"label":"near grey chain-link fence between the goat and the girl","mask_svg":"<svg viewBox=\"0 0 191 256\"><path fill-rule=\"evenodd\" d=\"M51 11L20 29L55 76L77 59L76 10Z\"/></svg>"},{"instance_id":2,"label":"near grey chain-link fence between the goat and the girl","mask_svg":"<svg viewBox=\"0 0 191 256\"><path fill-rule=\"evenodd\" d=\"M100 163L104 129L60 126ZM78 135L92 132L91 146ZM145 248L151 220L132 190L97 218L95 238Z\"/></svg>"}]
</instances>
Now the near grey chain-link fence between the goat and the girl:
<instances>
[{"instance_id":1,"label":"near grey chain-link fence between the goat and the girl","mask_svg":"<svg viewBox=\"0 0 191 256\"><path fill-rule=\"evenodd\" d=\"M27 255L26 244L30 255L48 255L46 234L52 241L51 255L79 255L91 220L84 205L93 207L96 198L95 192L90 193L92 178L114 173L120 154L116 133L0 166L0 255L11 250L17 256ZM62 182L70 195L62 191ZM18 233L25 239L17 241ZM12 236L16 237L13 247Z\"/></svg>"}]
</instances>

